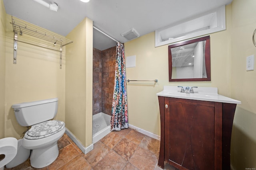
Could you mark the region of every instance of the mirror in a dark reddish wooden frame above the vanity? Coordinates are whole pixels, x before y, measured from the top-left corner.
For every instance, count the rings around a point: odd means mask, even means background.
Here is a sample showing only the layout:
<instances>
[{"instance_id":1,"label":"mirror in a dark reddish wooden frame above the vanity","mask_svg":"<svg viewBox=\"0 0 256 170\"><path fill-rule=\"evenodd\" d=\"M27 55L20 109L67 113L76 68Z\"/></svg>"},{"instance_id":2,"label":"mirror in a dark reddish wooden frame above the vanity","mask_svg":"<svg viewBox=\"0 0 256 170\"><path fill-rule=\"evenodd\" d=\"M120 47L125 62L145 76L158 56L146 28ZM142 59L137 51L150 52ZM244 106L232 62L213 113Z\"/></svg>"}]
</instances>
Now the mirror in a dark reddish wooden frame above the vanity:
<instances>
[{"instance_id":1,"label":"mirror in a dark reddish wooden frame above the vanity","mask_svg":"<svg viewBox=\"0 0 256 170\"><path fill-rule=\"evenodd\" d=\"M210 36L168 46L169 82L211 81Z\"/></svg>"}]
</instances>

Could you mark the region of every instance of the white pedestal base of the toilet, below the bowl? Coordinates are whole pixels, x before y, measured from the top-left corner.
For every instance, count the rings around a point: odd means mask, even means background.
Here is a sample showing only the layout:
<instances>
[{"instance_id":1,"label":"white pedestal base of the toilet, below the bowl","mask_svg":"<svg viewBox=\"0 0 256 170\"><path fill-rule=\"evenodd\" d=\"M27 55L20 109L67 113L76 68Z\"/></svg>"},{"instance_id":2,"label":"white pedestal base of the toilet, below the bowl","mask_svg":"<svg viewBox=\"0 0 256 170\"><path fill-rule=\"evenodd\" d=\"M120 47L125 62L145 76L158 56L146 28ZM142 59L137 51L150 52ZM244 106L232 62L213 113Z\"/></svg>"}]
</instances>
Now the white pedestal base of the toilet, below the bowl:
<instances>
[{"instance_id":1,"label":"white pedestal base of the toilet, below the bowl","mask_svg":"<svg viewBox=\"0 0 256 170\"><path fill-rule=\"evenodd\" d=\"M58 157L58 154L59 149L56 141L48 147L32 150L30 164L34 168L44 168L54 162Z\"/></svg>"}]
</instances>

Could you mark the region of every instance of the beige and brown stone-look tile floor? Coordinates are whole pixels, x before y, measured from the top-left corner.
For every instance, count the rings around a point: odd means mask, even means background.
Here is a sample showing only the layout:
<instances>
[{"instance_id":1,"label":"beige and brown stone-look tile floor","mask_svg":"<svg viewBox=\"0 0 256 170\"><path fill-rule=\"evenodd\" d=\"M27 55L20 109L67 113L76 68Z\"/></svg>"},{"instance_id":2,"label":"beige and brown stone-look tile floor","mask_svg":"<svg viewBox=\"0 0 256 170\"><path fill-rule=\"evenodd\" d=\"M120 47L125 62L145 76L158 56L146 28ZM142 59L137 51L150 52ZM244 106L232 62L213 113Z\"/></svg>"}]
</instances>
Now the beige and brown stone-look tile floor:
<instances>
[{"instance_id":1,"label":"beige and brown stone-look tile floor","mask_svg":"<svg viewBox=\"0 0 256 170\"><path fill-rule=\"evenodd\" d=\"M58 148L58 158L40 170L162 170L157 166L160 141L130 128L112 131L87 154L82 153L66 133L58 141ZM34 169L29 159L14 168L5 168Z\"/></svg>"}]
</instances>

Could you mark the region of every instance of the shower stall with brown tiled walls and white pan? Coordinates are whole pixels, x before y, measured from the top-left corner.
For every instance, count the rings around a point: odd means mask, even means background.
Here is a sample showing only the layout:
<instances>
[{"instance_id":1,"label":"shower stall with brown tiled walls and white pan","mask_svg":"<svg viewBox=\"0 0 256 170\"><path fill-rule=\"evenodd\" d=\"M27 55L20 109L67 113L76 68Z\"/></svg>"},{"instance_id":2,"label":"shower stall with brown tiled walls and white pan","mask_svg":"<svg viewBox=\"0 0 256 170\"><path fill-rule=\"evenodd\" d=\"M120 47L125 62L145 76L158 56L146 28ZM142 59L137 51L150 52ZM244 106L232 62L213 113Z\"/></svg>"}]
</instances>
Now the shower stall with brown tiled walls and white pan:
<instances>
[{"instance_id":1,"label":"shower stall with brown tiled walls and white pan","mask_svg":"<svg viewBox=\"0 0 256 170\"><path fill-rule=\"evenodd\" d=\"M116 46L93 49L92 143L110 133L115 63Z\"/></svg>"}]
</instances>

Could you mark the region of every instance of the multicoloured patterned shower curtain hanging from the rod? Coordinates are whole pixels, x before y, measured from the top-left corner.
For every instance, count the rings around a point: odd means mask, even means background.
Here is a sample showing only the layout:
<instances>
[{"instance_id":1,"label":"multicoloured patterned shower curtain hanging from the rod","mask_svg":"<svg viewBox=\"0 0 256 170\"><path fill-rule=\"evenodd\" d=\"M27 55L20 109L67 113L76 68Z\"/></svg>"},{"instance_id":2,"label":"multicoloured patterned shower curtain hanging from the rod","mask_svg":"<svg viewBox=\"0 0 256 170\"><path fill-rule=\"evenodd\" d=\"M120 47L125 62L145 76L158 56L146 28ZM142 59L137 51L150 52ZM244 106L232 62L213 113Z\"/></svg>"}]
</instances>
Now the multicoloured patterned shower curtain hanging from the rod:
<instances>
[{"instance_id":1,"label":"multicoloured patterned shower curtain hanging from the rod","mask_svg":"<svg viewBox=\"0 0 256 170\"><path fill-rule=\"evenodd\" d=\"M128 128L124 45L116 45L116 70L111 113L111 130Z\"/></svg>"}]
</instances>

